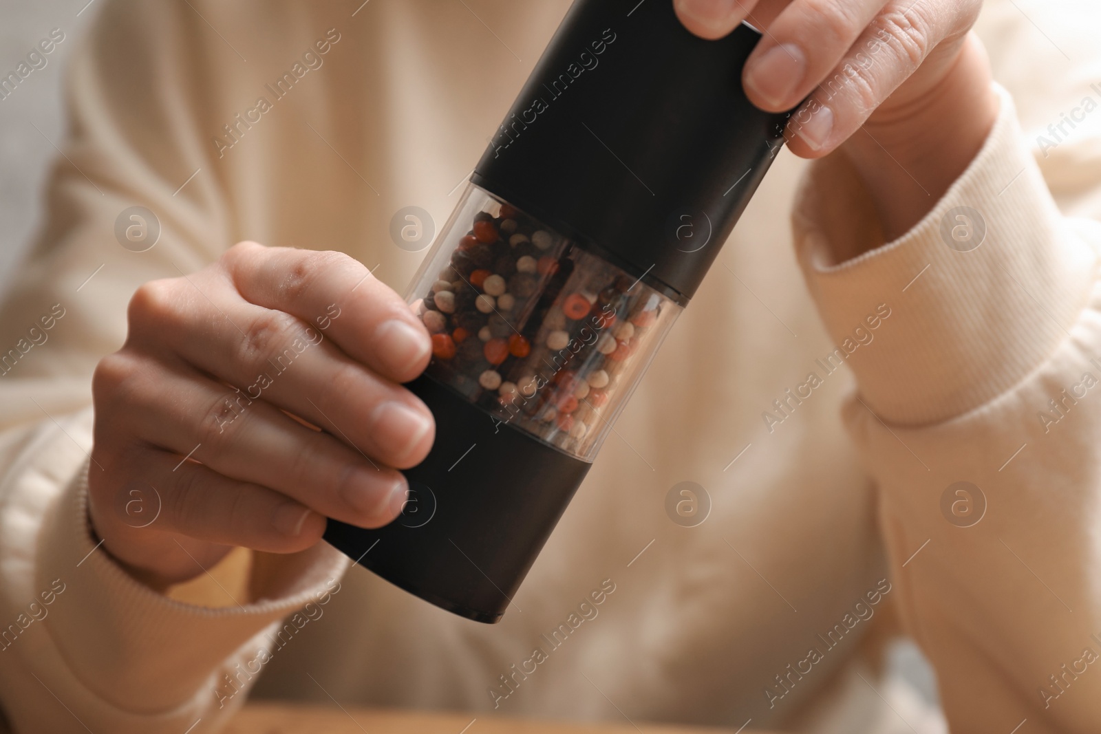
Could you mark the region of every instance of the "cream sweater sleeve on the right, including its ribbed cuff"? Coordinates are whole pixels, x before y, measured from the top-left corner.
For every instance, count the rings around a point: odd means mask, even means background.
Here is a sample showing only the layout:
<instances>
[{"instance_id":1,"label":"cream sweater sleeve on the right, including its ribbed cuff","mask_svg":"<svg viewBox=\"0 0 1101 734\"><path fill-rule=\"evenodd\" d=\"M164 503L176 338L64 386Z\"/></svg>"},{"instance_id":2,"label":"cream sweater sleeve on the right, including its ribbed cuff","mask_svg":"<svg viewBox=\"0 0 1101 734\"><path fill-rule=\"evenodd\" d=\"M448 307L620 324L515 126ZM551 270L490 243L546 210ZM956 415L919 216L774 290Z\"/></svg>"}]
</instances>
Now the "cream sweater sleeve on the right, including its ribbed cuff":
<instances>
[{"instance_id":1,"label":"cream sweater sleeve on the right, including its ribbed cuff","mask_svg":"<svg viewBox=\"0 0 1101 734\"><path fill-rule=\"evenodd\" d=\"M877 227L830 156L804 180L796 248L838 346L822 361L857 376L846 424L952 731L1095 732L1101 224L1060 213L999 94L981 152L913 230L832 264L830 242Z\"/></svg>"}]
</instances>

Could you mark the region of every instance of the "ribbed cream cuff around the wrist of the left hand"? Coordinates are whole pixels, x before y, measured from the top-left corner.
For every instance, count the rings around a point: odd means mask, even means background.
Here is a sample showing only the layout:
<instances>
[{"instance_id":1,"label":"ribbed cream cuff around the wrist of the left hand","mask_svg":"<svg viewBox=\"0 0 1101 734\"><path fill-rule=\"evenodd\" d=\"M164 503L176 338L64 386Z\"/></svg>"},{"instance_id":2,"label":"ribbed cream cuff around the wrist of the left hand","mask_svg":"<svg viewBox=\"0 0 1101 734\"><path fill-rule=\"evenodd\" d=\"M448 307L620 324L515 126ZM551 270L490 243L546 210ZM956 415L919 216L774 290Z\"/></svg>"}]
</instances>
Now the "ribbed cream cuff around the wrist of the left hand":
<instances>
[{"instance_id":1,"label":"ribbed cream cuff around the wrist of the left hand","mask_svg":"<svg viewBox=\"0 0 1101 734\"><path fill-rule=\"evenodd\" d=\"M253 657L242 649L263 642L253 637L326 594L326 581L348 568L344 555L321 543L283 557L279 573L253 584L252 603L207 609L174 601L97 547L86 519L87 473L86 462L45 517L37 585L65 583L65 603L54 604L45 623L74 675L120 709L154 713L196 694L212 699L227 660L238 653Z\"/></svg>"}]
</instances>

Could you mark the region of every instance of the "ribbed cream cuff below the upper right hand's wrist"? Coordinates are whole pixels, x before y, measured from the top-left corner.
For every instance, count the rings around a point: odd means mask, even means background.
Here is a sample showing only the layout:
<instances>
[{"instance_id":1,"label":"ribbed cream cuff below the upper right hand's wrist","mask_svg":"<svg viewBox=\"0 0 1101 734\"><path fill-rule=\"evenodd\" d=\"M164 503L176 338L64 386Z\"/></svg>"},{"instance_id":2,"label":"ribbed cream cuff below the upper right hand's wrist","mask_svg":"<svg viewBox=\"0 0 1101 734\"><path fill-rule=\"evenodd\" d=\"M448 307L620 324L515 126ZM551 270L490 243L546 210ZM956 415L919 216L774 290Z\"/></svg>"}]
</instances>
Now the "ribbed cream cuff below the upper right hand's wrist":
<instances>
[{"instance_id":1,"label":"ribbed cream cuff below the upper right hand's wrist","mask_svg":"<svg viewBox=\"0 0 1101 734\"><path fill-rule=\"evenodd\" d=\"M897 240L882 242L843 155L810 165L799 189L795 245L836 360L890 423L944 420L1011 388L1067 338L1089 295L1097 255L1059 213L1010 95L995 90L982 150ZM879 247L831 264L830 243L844 241Z\"/></svg>"}]
</instances>

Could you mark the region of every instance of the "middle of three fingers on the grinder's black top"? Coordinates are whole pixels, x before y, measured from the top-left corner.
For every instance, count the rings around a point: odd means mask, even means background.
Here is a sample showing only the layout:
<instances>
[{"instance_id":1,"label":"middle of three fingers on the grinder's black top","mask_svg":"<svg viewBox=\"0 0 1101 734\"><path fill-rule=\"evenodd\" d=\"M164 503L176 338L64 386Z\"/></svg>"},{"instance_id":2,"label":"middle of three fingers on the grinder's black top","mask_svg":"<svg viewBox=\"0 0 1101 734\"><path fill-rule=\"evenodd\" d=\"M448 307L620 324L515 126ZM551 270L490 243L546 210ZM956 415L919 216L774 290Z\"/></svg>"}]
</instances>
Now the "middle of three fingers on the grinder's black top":
<instances>
[{"instance_id":1,"label":"middle of three fingers on the grinder's black top","mask_svg":"<svg viewBox=\"0 0 1101 734\"><path fill-rule=\"evenodd\" d=\"M844 57L886 0L796 0L768 25L742 73L745 94L789 110Z\"/></svg>"}]
</instances>

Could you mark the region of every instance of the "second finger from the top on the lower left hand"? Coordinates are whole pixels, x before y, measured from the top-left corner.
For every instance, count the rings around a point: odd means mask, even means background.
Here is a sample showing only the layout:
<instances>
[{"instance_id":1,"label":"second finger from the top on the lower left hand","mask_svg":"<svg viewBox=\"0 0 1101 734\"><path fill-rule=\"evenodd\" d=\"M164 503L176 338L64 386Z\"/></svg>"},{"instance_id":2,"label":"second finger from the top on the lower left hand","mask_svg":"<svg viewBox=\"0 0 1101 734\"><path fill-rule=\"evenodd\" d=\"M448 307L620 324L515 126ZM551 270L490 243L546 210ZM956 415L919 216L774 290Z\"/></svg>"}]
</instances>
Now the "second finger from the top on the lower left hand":
<instances>
[{"instance_id":1,"label":"second finger from the top on the lower left hand","mask_svg":"<svg viewBox=\"0 0 1101 734\"><path fill-rule=\"evenodd\" d=\"M201 293L203 299L193 299L195 310L175 306L179 289ZM131 304L132 333L237 386L247 399L306 418L391 467L413 467L432 448L432 413L412 393L290 314L219 288L217 277L146 283Z\"/></svg>"}]
</instances>

